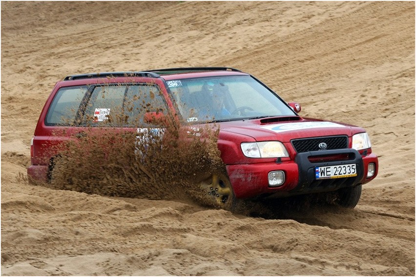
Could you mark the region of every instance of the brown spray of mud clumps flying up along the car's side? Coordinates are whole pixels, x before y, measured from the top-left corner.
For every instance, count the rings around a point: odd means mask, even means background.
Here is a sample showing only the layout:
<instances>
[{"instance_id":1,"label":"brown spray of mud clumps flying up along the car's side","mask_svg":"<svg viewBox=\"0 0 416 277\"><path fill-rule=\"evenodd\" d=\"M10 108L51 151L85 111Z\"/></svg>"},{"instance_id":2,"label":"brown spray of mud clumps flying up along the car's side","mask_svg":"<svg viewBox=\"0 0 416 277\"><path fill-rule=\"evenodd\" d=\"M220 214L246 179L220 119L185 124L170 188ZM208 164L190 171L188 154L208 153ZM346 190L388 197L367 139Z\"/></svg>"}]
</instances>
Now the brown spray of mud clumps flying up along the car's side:
<instances>
[{"instance_id":1,"label":"brown spray of mud clumps flying up along the car's side","mask_svg":"<svg viewBox=\"0 0 416 277\"><path fill-rule=\"evenodd\" d=\"M109 118L103 128L84 127L82 138L71 137L56 147L50 187L210 204L197 183L206 174L225 171L215 126L184 126L173 115L147 120L152 127L141 122L141 128L120 128L114 121L119 120Z\"/></svg>"}]
</instances>

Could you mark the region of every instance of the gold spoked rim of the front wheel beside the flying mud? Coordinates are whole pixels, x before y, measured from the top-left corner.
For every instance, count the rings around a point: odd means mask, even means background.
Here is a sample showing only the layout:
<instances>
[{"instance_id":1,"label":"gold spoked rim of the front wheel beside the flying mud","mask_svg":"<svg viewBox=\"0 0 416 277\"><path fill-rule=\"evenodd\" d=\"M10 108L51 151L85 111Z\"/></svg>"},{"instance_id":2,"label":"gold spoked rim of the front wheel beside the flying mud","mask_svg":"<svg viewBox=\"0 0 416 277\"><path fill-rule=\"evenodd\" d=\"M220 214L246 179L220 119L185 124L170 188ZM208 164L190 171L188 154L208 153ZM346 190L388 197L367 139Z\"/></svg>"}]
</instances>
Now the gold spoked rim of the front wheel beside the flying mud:
<instances>
[{"instance_id":1,"label":"gold spoked rim of the front wheel beside the flying mud","mask_svg":"<svg viewBox=\"0 0 416 277\"><path fill-rule=\"evenodd\" d=\"M213 203L224 208L232 198L231 184L223 174L213 174L200 183L201 188L207 192Z\"/></svg>"}]
</instances>

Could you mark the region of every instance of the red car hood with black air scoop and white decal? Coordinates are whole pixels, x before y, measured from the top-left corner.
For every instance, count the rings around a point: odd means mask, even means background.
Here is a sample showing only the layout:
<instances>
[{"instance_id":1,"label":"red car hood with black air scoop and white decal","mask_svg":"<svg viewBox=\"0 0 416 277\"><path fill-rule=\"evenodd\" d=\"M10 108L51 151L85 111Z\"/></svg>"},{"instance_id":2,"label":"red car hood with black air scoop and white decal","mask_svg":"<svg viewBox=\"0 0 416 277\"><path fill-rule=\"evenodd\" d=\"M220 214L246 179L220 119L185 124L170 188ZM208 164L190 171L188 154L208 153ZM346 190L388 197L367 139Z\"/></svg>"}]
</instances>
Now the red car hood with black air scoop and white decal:
<instances>
[{"instance_id":1,"label":"red car hood with black air scoop and white decal","mask_svg":"<svg viewBox=\"0 0 416 277\"><path fill-rule=\"evenodd\" d=\"M295 120L252 119L218 123L221 132L235 133L256 141L279 140L346 135L348 137L365 132L363 128L334 121L320 119L291 118ZM271 122L270 122L271 121ZM249 139L249 138L247 138Z\"/></svg>"}]
</instances>

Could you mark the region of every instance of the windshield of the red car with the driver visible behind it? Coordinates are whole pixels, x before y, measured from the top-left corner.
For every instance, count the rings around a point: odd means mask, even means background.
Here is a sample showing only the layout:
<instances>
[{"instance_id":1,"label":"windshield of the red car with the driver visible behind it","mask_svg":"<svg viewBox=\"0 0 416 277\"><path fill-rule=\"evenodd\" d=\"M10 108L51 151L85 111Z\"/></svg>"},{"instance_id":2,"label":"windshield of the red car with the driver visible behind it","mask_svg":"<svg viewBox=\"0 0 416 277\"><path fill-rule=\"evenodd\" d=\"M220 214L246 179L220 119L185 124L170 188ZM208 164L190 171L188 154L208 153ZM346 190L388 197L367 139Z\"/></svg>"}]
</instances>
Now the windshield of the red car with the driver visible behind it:
<instances>
[{"instance_id":1,"label":"windshield of the red car with the driver visible behind it","mask_svg":"<svg viewBox=\"0 0 416 277\"><path fill-rule=\"evenodd\" d=\"M281 99L250 76L222 76L167 82L187 122L295 116Z\"/></svg>"}]
</instances>

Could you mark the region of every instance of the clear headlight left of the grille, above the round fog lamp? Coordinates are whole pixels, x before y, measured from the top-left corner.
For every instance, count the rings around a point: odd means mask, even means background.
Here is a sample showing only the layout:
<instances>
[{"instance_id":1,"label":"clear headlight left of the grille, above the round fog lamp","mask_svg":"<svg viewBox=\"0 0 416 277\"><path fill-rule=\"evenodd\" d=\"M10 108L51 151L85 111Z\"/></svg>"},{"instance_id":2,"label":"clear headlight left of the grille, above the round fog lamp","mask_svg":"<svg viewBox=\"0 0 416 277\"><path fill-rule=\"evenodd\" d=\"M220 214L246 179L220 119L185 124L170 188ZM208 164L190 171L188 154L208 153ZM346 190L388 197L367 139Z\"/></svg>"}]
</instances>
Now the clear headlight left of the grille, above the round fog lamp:
<instances>
[{"instance_id":1,"label":"clear headlight left of the grille, above the round fog lamp","mask_svg":"<svg viewBox=\"0 0 416 277\"><path fill-rule=\"evenodd\" d=\"M243 142L241 150L249 158L289 157L288 151L280 141Z\"/></svg>"}]
</instances>

